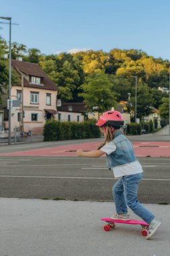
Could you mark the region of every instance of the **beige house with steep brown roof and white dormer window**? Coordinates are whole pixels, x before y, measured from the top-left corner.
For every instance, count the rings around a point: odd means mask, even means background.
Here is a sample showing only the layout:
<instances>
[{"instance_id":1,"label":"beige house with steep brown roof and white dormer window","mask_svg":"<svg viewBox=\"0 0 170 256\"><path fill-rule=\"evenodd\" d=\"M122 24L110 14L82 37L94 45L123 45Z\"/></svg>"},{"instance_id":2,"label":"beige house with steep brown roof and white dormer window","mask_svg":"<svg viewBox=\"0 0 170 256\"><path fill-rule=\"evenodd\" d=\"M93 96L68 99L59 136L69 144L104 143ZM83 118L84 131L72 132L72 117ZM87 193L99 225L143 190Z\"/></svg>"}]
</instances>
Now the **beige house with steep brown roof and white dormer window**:
<instances>
[{"instance_id":1,"label":"beige house with steep brown roof and white dormer window","mask_svg":"<svg viewBox=\"0 0 170 256\"><path fill-rule=\"evenodd\" d=\"M46 120L56 117L58 88L38 64L12 60L11 65L20 78L19 84L11 87L11 100L21 100L19 107L11 107L11 131L16 127L42 133ZM8 121L4 126L8 127Z\"/></svg>"}]
</instances>

